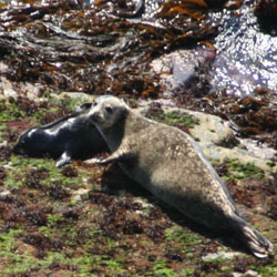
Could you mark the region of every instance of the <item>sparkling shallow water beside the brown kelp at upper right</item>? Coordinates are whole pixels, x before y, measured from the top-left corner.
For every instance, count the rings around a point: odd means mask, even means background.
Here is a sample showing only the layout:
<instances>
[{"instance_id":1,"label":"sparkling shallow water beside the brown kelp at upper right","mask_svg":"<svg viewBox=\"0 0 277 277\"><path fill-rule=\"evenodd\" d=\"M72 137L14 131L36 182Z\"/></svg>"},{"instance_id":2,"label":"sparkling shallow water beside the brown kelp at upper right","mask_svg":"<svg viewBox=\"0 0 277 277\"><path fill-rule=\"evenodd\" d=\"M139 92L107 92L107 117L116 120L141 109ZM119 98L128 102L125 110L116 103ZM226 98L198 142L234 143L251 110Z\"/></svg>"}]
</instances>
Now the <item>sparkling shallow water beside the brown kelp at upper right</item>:
<instances>
[{"instance_id":1,"label":"sparkling shallow water beside the brown kelp at upper right","mask_svg":"<svg viewBox=\"0 0 277 277\"><path fill-rule=\"evenodd\" d=\"M249 7L238 17L223 12L215 38L217 57L213 64L215 90L237 96L253 95L257 86L277 89L277 37L263 32Z\"/></svg>"}]
</instances>

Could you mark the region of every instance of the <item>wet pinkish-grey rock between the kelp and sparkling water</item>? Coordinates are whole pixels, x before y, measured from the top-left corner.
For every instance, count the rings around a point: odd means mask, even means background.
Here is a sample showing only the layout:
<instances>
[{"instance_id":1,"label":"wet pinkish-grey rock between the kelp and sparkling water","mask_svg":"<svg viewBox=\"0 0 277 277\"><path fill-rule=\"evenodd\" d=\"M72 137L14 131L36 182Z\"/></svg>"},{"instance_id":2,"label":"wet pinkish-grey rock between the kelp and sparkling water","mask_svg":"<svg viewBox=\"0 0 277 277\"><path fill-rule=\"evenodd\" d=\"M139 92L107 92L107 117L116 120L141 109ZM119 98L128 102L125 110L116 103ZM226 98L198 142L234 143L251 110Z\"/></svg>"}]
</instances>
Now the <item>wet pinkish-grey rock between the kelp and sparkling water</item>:
<instances>
[{"instance_id":1,"label":"wet pinkish-grey rock between the kelp and sparkling water","mask_svg":"<svg viewBox=\"0 0 277 277\"><path fill-rule=\"evenodd\" d=\"M151 62L158 74L163 96L172 92L202 96L209 91L209 68L215 58L212 49L178 50Z\"/></svg>"}]
</instances>

